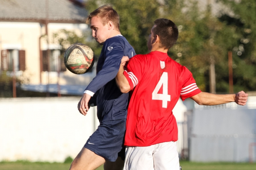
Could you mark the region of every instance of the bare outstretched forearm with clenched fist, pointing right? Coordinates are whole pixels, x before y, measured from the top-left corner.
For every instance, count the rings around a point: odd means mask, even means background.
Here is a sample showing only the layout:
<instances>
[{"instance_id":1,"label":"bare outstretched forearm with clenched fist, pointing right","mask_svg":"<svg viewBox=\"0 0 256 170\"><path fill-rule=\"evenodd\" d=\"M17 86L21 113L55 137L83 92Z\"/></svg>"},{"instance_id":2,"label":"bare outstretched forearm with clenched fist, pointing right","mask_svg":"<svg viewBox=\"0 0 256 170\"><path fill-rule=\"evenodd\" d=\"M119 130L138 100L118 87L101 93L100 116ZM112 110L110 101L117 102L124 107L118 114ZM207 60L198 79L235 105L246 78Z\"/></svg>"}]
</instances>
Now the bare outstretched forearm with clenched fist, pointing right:
<instances>
[{"instance_id":1,"label":"bare outstretched forearm with clenched fist, pointing right","mask_svg":"<svg viewBox=\"0 0 256 170\"><path fill-rule=\"evenodd\" d=\"M229 102L236 102L239 105L245 105L248 99L248 94L240 91L237 94L217 95L208 92L200 92L199 94L190 97L199 105L218 105Z\"/></svg>"}]
</instances>

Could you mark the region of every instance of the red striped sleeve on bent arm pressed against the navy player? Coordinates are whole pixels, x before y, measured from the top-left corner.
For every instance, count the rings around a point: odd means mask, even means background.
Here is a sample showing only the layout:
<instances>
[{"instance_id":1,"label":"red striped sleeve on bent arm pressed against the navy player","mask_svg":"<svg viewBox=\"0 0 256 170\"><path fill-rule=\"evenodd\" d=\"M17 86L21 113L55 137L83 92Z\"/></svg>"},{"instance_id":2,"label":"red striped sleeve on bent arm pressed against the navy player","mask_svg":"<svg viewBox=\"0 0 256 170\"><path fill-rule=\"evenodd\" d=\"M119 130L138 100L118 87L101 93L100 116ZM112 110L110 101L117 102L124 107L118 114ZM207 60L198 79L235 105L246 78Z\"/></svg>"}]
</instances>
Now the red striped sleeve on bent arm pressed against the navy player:
<instances>
[{"instance_id":1,"label":"red striped sleeve on bent arm pressed against the navy player","mask_svg":"<svg viewBox=\"0 0 256 170\"><path fill-rule=\"evenodd\" d=\"M129 85L131 87L130 90L133 90L133 88L140 82L141 76L144 71L144 65L142 65L142 56L143 55L135 55L132 58L130 58L127 70L124 71L124 75L126 79L129 82Z\"/></svg>"}]
</instances>

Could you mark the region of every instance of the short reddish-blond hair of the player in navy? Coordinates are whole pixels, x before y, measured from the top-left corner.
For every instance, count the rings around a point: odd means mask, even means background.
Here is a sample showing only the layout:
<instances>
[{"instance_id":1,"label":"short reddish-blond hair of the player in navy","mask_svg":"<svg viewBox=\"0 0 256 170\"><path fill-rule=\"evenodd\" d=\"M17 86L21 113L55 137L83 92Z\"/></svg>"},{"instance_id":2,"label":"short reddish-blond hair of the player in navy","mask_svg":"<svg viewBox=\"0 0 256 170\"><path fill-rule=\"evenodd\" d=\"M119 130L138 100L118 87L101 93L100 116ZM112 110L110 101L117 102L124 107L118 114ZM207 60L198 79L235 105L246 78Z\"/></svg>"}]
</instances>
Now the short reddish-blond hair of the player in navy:
<instances>
[{"instance_id":1,"label":"short reddish-blond hair of the player in navy","mask_svg":"<svg viewBox=\"0 0 256 170\"><path fill-rule=\"evenodd\" d=\"M96 16L102 19L103 25L105 25L108 21L112 21L114 23L114 26L117 27L119 30L119 15L111 5L103 5L91 12L86 18L86 23L89 23L91 18Z\"/></svg>"}]
</instances>

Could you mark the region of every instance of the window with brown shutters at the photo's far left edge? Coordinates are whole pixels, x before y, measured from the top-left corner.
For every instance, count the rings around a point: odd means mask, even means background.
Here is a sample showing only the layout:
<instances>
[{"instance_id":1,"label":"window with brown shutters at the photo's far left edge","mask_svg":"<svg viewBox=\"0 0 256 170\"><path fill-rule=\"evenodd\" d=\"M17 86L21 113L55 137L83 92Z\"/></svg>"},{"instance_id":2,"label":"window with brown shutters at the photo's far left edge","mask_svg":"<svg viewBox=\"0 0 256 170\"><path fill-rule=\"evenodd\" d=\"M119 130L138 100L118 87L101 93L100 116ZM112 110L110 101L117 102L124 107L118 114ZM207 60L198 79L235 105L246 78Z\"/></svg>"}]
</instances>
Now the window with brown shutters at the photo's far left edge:
<instances>
[{"instance_id":1,"label":"window with brown shutters at the photo's far left edge","mask_svg":"<svg viewBox=\"0 0 256 170\"><path fill-rule=\"evenodd\" d=\"M25 51L16 49L1 50L1 70L13 71L13 69L15 71L25 71Z\"/></svg>"}]
</instances>

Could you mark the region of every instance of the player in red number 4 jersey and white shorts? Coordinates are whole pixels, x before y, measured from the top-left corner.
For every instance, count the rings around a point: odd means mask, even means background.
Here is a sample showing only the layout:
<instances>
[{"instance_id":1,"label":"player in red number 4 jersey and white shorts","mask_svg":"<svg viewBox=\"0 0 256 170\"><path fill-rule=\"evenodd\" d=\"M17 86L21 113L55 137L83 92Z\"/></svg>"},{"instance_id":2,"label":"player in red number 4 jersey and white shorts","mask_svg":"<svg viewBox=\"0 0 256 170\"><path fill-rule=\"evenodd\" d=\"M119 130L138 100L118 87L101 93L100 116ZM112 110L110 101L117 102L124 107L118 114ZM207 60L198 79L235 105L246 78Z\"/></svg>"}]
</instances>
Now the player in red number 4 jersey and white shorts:
<instances>
[{"instance_id":1,"label":"player in red number 4 jersey and white shorts","mask_svg":"<svg viewBox=\"0 0 256 170\"><path fill-rule=\"evenodd\" d=\"M157 19L148 39L150 53L130 58L125 71L120 65L117 85L124 93L131 90L125 134L126 170L180 169L175 142L178 129L172 114L180 97L200 105L246 104L248 95L243 91L229 95L202 92L192 73L167 55L177 38L178 29L171 20Z\"/></svg>"}]
</instances>

